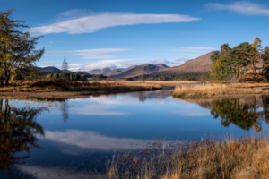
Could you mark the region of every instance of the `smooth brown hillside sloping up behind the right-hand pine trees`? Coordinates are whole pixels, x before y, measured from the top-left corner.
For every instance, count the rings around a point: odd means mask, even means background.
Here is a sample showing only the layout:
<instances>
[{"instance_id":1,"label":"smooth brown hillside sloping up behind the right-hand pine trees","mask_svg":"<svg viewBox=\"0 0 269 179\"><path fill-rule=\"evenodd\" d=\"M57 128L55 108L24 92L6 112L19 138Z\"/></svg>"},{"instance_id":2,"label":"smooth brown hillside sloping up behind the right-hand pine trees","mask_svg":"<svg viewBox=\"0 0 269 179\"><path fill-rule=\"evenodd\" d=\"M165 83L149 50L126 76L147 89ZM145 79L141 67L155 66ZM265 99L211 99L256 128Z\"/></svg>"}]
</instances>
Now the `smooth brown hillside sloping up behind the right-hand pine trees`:
<instances>
[{"instance_id":1,"label":"smooth brown hillside sloping up behind the right-hand pine trees","mask_svg":"<svg viewBox=\"0 0 269 179\"><path fill-rule=\"evenodd\" d=\"M169 76L192 72L209 72L210 68L212 67L212 62L210 60L211 55L213 55L213 52L201 55L179 66L171 67L169 69L163 69L159 72L152 72L150 73L150 75Z\"/></svg>"}]
</instances>

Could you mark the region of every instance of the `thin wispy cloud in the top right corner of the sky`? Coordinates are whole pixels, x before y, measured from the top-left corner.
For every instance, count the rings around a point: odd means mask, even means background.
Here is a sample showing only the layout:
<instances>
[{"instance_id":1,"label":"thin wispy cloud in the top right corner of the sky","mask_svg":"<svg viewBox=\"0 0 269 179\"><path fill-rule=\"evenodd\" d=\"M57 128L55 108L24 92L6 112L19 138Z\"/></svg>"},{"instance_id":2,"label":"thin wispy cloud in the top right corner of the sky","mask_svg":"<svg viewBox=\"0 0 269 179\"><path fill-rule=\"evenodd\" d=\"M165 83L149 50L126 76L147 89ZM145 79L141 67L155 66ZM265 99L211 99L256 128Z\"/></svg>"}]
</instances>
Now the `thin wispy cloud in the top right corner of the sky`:
<instances>
[{"instance_id":1,"label":"thin wispy cloud in the top right corner of the sky","mask_svg":"<svg viewBox=\"0 0 269 179\"><path fill-rule=\"evenodd\" d=\"M265 4L256 4L250 2L234 2L231 4L206 4L208 10L228 10L247 15L269 15L269 9Z\"/></svg>"}]
</instances>

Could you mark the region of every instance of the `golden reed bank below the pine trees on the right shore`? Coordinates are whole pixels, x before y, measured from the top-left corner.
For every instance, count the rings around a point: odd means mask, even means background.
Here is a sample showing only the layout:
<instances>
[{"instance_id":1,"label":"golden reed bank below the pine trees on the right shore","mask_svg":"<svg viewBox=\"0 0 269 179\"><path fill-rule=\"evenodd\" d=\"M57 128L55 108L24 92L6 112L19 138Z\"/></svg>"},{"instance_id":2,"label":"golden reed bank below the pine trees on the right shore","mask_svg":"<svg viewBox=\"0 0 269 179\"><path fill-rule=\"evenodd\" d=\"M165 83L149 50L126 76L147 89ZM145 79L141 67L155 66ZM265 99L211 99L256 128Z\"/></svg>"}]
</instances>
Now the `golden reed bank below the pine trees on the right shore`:
<instances>
[{"instance_id":1,"label":"golden reed bank below the pine trees on the right shore","mask_svg":"<svg viewBox=\"0 0 269 179\"><path fill-rule=\"evenodd\" d=\"M268 88L268 90L258 89ZM269 94L268 83L199 84L177 87L173 96L178 98L228 98L238 95Z\"/></svg>"}]
</instances>

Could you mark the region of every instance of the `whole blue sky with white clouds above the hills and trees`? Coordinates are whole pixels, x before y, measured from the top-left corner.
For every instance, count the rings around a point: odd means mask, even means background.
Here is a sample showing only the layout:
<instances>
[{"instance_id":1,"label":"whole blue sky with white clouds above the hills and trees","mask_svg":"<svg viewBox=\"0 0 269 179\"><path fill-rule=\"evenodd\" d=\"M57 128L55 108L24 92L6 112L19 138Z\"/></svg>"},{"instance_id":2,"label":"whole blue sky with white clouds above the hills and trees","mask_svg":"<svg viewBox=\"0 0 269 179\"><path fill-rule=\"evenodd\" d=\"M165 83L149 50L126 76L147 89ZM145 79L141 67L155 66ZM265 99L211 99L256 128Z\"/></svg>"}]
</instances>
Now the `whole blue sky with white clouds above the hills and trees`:
<instances>
[{"instance_id":1,"label":"whole blue sky with white clouds above the hills and trees","mask_svg":"<svg viewBox=\"0 0 269 179\"><path fill-rule=\"evenodd\" d=\"M139 64L176 66L255 37L269 45L269 2L220 0L0 0L0 11L44 37L37 66L91 71Z\"/></svg>"}]
</instances>

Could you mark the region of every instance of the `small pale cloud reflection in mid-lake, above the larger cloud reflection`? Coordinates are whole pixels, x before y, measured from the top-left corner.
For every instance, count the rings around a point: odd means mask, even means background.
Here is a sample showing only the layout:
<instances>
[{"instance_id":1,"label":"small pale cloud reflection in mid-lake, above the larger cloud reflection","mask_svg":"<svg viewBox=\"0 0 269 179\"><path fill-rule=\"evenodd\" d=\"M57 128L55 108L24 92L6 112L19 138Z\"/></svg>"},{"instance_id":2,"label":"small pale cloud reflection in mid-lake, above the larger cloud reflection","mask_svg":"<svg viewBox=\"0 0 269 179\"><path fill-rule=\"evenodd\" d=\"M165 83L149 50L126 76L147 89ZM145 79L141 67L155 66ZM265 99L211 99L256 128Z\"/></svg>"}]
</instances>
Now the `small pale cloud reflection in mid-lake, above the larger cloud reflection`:
<instances>
[{"instance_id":1,"label":"small pale cloud reflection in mid-lake, above the larger cloud reflection","mask_svg":"<svg viewBox=\"0 0 269 179\"><path fill-rule=\"evenodd\" d=\"M96 105L85 105L81 108L70 109L69 114L80 114L80 115L127 115L124 112L108 111L112 109L112 106L96 106Z\"/></svg>"}]
</instances>

